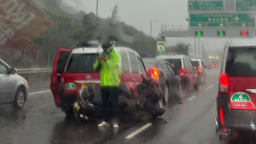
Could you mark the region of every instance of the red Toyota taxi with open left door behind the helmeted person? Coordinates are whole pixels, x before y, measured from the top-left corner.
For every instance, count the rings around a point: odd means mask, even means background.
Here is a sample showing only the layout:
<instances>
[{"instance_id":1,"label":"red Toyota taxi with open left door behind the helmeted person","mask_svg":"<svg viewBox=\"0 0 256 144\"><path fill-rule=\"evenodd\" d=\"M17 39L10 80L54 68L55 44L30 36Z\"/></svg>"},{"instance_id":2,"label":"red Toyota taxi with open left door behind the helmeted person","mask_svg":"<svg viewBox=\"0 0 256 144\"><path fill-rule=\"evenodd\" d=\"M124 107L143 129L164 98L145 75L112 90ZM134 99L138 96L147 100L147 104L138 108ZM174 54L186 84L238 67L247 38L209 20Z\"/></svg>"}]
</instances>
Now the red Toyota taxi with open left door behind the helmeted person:
<instances>
[{"instance_id":1,"label":"red Toyota taxi with open left door behind the helmeted person","mask_svg":"<svg viewBox=\"0 0 256 144\"><path fill-rule=\"evenodd\" d=\"M137 97L137 85L142 82L140 73L146 74L145 66L139 54L130 48L115 47L120 55L120 83ZM50 89L55 105L62 108L67 116L74 115L73 105L78 92L87 85L100 87L100 74L94 70L99 54L98 48L59 48L55 56Z\"/></svg>"}]
</instances>

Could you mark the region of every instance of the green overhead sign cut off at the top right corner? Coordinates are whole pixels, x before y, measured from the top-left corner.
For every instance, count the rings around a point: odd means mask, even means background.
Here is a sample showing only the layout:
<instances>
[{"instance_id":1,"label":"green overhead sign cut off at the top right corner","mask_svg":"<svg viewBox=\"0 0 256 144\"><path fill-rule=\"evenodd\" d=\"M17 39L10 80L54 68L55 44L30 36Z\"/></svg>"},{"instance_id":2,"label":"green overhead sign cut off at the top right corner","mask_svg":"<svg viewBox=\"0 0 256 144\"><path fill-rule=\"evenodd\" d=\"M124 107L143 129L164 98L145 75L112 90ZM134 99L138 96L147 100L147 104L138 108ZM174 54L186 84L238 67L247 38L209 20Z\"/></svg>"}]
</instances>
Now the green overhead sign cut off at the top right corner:
<instances>
[{"instance_id":1,"label":"green overhead sign cut off at the top right corner","mask_svg":"<svg viewBox=\"0 0 256 144\"><path fill-rule=\"evenodd\" d=\"M236 0L236 11L256 11L256 0Z\"/></svg>"}]
</instances>

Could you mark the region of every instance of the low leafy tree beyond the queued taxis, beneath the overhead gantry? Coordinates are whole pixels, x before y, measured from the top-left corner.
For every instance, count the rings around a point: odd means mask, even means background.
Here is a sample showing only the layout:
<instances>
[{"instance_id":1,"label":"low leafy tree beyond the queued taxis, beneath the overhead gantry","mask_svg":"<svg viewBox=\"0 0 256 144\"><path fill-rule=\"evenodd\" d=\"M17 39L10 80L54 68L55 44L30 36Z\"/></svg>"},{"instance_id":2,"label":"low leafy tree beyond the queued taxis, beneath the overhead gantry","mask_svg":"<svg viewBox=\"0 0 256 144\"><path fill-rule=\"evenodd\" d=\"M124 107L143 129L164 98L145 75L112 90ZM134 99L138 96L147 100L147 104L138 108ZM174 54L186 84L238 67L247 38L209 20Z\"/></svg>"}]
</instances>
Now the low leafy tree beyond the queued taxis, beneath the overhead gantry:
<instances>
[{"instance_id":1,"label":"low leafy tree beyond the queued taxis, beneath the overhead gantry","mask_svg":"<svg viewBox=\"0 0 256 144\"><path fill-rule=\"evenodd\" d=\"M176 46L167 47L166 53L177 53L187 55L190 53L190 44L178 43Z\"/></svg>"}]
</instances>

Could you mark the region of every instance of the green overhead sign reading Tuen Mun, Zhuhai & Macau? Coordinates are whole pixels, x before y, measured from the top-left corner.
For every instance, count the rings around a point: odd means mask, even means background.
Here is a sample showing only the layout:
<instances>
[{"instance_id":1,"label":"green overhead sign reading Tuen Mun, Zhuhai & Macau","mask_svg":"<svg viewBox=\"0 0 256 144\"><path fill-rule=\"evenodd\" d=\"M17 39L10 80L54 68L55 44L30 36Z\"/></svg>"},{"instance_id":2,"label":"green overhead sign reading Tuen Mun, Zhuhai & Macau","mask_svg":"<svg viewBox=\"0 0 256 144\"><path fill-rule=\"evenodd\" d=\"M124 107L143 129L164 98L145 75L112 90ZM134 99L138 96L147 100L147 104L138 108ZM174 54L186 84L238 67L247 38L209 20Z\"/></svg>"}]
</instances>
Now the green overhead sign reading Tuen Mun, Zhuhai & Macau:
<instances>
[{"instance_id":1,"label":"green overhead sign reading Tuen Mun, Zhuhai & Macau","mask_svg":"<svg viewBox=\"0 0 256 144\"><path fill-rule=\"evenodd\" d=\"M188 11L223 11L223 0L189 0Z\"/></svg>"}]
</instances>

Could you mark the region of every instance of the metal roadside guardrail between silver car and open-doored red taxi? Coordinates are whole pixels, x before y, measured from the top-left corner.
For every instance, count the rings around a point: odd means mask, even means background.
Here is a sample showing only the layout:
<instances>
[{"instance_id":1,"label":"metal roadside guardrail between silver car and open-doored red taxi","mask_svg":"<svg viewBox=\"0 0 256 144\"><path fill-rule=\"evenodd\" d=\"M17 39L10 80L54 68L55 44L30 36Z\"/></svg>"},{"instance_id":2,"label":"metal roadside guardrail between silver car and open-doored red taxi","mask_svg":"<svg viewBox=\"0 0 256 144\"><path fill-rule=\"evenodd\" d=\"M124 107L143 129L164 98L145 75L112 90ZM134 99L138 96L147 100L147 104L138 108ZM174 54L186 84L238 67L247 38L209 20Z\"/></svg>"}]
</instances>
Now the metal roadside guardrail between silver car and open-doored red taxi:
<instances>
[{"instance_id":1,"label":"metal roadside guardrail between silver car and open-doored red taxi","mask_svg":"<svg viewBox=\"0 0 256 144\"><path fill-rule=\"evenodd\" d=\"M52 69L17 69L17 74L26 74L26 80L28 80L28 74L46 73L45 78L47 79L47 73L52 73Z\"/></svg>"}]
</instances>

